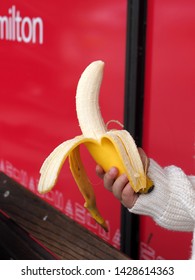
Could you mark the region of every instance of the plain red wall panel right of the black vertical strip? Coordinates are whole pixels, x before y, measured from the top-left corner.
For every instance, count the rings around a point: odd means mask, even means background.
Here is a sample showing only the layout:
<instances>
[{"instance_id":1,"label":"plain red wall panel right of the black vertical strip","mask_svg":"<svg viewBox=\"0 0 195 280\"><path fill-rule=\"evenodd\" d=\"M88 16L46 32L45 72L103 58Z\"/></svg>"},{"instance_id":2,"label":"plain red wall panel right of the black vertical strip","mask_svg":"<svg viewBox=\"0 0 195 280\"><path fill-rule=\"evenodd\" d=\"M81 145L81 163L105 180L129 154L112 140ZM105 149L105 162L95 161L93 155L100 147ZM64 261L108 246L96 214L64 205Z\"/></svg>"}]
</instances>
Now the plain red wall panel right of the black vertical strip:
<instances>
[{"instance_id":1,"label":"plain red wall panel right of the black vertical strip","mask_svg":"<svg viewBox=\"0 0 195 280\"><path fill-rule=\"evenodd\" d=\"M149 0L143 146L162 166L195 174L195 2ZM141 258L187 259L191 233L141 218Z\"/></svg>"}]
</instances>

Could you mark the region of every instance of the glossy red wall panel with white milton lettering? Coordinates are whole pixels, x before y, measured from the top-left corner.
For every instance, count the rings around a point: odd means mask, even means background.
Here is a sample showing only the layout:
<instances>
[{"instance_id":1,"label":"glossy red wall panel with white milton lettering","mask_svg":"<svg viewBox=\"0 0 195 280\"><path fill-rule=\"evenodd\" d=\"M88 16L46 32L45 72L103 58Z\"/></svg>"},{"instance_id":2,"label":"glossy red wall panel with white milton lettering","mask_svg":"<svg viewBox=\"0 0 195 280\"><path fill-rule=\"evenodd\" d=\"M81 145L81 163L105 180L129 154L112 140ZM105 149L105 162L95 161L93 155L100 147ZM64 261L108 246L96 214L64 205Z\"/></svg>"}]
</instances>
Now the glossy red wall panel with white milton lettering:
<instances>
[{"instance_id":1,"label":"glossy red wall panel with white milton lettering","mask_svg":"<svg viewBox=\"0 0 195 280\"><path fill-rule=\"evenodd\" d=\"M90 62L106 64L100 96L105 122L123 122L126 1L1 1L0 28L0 170L38 195L46 156L81 133L75 92ZM109 233L83 207L68 164L42 198L119 248L120 204L85 157Z\"/></svg>"}]
</instances>

